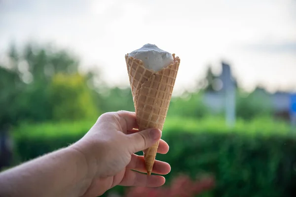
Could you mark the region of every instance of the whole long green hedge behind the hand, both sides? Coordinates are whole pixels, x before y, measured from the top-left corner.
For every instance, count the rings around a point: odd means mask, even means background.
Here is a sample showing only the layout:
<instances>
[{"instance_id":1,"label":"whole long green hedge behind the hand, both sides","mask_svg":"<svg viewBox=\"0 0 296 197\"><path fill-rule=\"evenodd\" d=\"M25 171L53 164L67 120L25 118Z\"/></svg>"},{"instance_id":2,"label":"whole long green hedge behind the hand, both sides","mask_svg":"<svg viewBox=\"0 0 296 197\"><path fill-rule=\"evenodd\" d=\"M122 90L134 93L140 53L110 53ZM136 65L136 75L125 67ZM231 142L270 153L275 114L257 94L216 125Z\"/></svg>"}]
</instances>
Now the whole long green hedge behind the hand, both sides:
<instances>
[{"instance_id":1,"label":"whole long green hedge behind the hand, both sides","mask_svg":"<svg viewBox=\"0 0 296 197\"><path fill-rule=\"evenodd\" d=\"M15 149L26 161L75 142L93 123L22 125L14 133ZM172 166L167 183L178 173L212 173L217 186L207 197L296 195L296 135L283 123L238 121L228 130L223 120L168 119L162 138L170 151L156 159Z\"/></svg>"}]
</instances>

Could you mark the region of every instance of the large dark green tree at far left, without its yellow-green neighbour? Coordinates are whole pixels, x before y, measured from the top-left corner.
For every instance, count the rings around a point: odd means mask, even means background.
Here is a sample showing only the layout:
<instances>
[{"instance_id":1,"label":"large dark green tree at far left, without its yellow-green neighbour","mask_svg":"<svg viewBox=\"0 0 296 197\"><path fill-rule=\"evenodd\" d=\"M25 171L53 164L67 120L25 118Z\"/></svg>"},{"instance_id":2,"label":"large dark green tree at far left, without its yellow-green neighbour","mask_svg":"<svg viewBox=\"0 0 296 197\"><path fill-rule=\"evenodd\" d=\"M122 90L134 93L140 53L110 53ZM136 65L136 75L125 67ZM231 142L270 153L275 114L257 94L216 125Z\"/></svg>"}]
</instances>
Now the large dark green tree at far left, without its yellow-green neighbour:
<instances>
[{"instance_id":1,"label":"large dark green tree at far left, without its yellow-green neighbour","mask_svg":"<svg viewBox=\"0 0 296 197\"><path fill-rule=\"evenodd\" d=\"M35 43L24 48L11 44L6 57L7 61L0 65L0 128L19 121L51 120L52 78L58 73L63 76L77 73L78 58L67 50ZM86 81L83 83L86 85Z\"/></svg>"}]
</instances>

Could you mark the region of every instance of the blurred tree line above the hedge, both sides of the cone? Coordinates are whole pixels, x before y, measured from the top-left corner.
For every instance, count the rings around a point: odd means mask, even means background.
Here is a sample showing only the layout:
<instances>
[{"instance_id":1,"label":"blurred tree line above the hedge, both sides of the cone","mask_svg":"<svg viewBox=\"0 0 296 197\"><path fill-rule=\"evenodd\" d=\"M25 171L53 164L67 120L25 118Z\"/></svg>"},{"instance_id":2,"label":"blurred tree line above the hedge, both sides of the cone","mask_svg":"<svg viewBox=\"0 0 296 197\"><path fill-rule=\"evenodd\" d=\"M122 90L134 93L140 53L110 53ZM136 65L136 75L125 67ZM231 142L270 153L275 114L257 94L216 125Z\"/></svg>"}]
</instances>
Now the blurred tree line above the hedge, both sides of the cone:
<instances>
[{"instance_id":1,"label":"blurred tree line above the hedge, both sides of the cone","mask_svg":"<svg viewBox=\"0 0 296 197\"><path fill-rule=\"evenodd\" d=\"M88 119L108 111L135 110L130 87L108 87L98 83L101 80L99 71L82 74L79 66L78 57L67 50L35 43L17 50L12 44L7 61L0 65L0 128L26 121ZM215 83L219 77L208 66L196 91L185 91L180 97L172 98L168 117L213 115L203 99L209 91L217 92ZM254 91L246 95L237 89L236 114L239 118L252 119L272 113L267 94ZM222 111L219 114L222 115Z\"/></svg>"}]
</instances>

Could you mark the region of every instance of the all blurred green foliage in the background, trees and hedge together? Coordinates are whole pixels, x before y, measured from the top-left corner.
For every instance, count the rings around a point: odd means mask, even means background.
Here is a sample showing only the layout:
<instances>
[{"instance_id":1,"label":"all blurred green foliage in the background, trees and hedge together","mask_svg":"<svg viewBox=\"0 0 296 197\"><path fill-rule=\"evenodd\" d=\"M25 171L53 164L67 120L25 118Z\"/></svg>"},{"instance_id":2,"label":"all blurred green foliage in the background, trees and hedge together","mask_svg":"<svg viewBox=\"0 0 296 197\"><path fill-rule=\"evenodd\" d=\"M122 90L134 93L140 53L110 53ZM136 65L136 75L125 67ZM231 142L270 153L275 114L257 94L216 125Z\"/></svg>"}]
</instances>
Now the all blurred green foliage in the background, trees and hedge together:
<instances>
[{"instance_id":1,"label":"all blurred green foliage in the background, trees and hedge together","mask_svg":"<svg viewBox=\"0 0 296 197\"><path fill-rule=\"evenodd\" d=\"M34 43L17 50L12 44L6 55L0 65L0 131L12 126L19 162L77 141L101 113L135 110L130 87L106 86L97 70L80 72L70 51ZM294 196L295 131L272 118L264 90L244 93L237 86L237 120L229 130L223 110L213 113L204 102L205 94L219 92L219 77L209 67L195 91L170 102L163 130L170 154L157 155L172 166L168 183L179 173L194 178L207 172L217 179L207 197ZM123 193L122 187L114 190Z\"/></svg>"}]
</instances>

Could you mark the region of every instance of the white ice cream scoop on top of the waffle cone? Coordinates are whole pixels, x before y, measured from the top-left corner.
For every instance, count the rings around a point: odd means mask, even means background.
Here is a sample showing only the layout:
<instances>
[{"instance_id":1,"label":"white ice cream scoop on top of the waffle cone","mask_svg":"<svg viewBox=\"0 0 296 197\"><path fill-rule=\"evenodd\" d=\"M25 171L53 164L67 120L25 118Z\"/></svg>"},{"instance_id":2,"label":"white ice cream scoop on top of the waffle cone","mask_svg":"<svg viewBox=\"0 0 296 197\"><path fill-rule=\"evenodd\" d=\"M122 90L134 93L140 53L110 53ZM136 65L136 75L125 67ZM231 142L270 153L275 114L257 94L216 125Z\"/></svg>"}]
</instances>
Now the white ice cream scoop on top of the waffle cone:
<instances>
[{"instance_id":1,"label":"white ice cream scoop on top of the waffle cone","mask_svg":"<svg viewBox=\"0 0 296 197\"><path fill-rule=\"evenodd\" d=\"M174 63L172 54L161 50L154 44L145 44L142 48L129 53L128 56L142 60L147 69L154 71L159 71Z\"/></svg>"}]
</instances>

